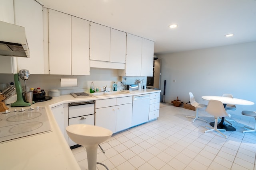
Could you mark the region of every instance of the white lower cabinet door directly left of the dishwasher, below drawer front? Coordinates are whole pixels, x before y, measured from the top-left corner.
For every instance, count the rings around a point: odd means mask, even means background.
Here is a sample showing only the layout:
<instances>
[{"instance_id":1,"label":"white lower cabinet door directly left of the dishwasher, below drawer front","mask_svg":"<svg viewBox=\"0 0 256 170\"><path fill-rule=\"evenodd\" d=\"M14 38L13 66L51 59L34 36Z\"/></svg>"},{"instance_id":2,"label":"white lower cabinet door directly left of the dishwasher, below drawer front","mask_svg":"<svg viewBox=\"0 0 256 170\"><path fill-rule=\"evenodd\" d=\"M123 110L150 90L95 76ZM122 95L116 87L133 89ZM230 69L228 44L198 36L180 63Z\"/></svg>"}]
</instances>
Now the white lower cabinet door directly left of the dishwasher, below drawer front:
<instances>
[{"instance_id":1,"label":"white lower cabinet door directly left of the dishwasher, below drawer front","mask_svg":"<svg viewBox=\"0 0 256 170\"><path fill-rule=\"evenodd\" d=\"M116 106L116 131L122 131L132 126L132 104Z\"/></svg>"}]
</instances>

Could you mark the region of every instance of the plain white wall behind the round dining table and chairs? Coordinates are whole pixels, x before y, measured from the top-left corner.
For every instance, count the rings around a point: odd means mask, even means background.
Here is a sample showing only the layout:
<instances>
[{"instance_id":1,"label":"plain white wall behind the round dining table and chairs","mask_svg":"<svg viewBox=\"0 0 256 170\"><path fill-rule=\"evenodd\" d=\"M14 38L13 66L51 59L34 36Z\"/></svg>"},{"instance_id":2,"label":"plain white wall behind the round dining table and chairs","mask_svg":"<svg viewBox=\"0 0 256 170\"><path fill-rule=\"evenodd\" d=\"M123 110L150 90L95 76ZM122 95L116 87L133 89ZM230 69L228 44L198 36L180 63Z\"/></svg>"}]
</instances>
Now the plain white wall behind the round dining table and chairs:
<instances>
[{"instance_id":1,"label":"plain white wall behind the round dining table and chairs","mask_svg":"<svg viewBox=\"0 0 256 170\"><path fill-rule=\"evenodd\" d=\"M161 59L160 89L163 92L166 80L165 101L168 103L177 96L188 102L189 92L197 102L204 104L208 102L201 96L224 93L256 103L256 42L157 57ZM240 115L242 110L256 111L256 105L237 106L232 113Z\"/></svg>"}]
</instances>

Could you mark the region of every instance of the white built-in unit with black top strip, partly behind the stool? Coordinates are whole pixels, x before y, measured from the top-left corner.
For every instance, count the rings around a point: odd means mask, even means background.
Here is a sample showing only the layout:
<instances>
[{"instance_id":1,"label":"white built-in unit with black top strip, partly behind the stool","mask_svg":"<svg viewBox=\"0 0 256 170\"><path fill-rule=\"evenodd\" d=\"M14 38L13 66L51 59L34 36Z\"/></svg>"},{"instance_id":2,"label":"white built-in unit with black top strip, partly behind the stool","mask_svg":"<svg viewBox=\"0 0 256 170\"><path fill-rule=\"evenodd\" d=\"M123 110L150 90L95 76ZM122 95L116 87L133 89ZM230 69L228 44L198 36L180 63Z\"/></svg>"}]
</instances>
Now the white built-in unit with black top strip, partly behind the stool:
<instances>
[{"instance_id":1,"label":"white built-in unit with black top strip, partly behind the stool","mask_svg":"<svg viewBox=\"0 0 256 170\"><path fill-rule=\"evenodd\" d=\"M88 124L94 125L94 106L95 101L70 102L68 103L68 125ZM71 149L80 147L69 138Z\"/></svg>"}]
</instances>

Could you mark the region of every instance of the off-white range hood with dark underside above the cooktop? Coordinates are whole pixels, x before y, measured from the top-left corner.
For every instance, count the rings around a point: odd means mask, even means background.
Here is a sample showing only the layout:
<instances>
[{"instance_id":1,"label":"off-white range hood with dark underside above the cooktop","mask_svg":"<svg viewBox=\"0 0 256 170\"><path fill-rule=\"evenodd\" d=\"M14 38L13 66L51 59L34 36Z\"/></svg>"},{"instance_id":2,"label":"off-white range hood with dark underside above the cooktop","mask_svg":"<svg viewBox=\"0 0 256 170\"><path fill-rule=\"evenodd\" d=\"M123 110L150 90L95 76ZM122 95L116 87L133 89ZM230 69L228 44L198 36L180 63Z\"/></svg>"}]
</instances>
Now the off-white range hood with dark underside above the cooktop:
<instances>
[{"instance_id":1,"label":"off-white range hood with dark underside above the cooktop","mask_svg":"<svg viewBox=\"0 0 256 170\"><path fill-rule=\"evenodd\" d=\"M25 28L0 21L0 55L29 57Z\"/></svg>"}]
</instances>

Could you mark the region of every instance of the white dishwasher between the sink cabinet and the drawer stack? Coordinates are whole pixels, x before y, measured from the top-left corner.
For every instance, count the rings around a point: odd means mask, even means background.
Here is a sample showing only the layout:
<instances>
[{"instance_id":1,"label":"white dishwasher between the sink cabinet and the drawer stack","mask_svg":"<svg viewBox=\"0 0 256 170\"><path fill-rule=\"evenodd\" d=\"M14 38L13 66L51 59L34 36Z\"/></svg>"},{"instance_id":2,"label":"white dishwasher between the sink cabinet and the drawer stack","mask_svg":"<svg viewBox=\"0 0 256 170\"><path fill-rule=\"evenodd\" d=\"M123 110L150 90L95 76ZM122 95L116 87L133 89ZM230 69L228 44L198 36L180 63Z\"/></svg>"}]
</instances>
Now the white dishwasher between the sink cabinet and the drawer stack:
<instances>
[{"instance_id":1,"label":"white dishwasher between the sink cabinet and the drawer stack","mask_svg":"<svg viewBox=\"0 0 256 170\"><path fill-rule=\"evenodd\" d=\"M133 96L132 100L132 126L148 121L150 94Z\"/></svg>"}]
</instances>

